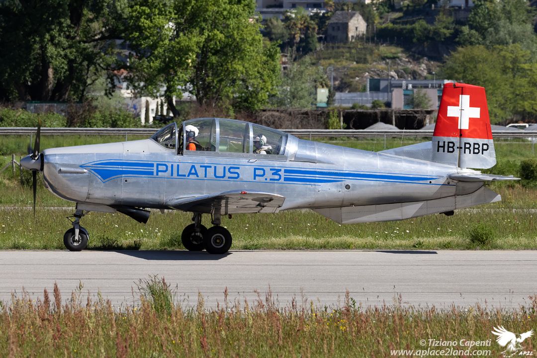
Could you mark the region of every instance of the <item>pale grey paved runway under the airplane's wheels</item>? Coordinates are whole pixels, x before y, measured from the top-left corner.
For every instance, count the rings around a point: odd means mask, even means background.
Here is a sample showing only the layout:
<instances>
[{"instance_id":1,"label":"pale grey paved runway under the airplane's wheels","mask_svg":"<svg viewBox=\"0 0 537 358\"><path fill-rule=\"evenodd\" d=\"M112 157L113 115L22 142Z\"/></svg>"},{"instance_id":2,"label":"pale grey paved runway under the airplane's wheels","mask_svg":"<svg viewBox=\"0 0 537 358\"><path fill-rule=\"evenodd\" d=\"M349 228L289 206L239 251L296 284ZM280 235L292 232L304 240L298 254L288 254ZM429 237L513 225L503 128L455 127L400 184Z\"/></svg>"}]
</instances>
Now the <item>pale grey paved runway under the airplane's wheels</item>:
<instances>
[{"instance_id":1,"label":"pale grey paved runway under the airplane's wheels","mask_svg":"<svg viewBox=\"0 0 537 358\"><path fill-rule=\"evenodd\" d=\"M345 290L363 306L392 304L448 308L476 303L506 309L537 294L537 251L0 251L0 300L24 288L32 297L52 291L63 298L79 282L84 300L100 291L115 306L136 304L135 282L164 276L177 301L207 306L224 300L249 302L266 291L281 306L343 304ZM259 296L258 296L259 293ZM85 302L85 301L84 301Z\"/></svg>"}]
</instances>

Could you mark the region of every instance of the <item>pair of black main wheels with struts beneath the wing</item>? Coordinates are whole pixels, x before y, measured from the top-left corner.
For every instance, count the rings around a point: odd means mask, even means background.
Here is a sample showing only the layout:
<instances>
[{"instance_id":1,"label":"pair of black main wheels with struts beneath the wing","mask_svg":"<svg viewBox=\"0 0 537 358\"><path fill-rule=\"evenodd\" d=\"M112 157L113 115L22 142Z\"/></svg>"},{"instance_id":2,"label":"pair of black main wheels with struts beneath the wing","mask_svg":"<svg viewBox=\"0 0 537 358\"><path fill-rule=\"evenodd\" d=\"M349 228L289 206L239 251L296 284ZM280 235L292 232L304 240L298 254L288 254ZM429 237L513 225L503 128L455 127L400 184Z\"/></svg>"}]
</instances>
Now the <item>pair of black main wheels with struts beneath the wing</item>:
<instances>
[{"instance_id":1,"label":"pair of black main wheels with struts beneath the wing","mask_svg":"<svg viewBox=\"0 0 537 358\"><path fill-rule=\"evenodd\" d=\"M222 254L231 247L231 233L220 226L220 214L213 215L212 228L201 224L201 213L194 213L193 224L188 225L181 234L181 242L188 251L207 250L208 253Z\"/></svg>"}]
</instances>

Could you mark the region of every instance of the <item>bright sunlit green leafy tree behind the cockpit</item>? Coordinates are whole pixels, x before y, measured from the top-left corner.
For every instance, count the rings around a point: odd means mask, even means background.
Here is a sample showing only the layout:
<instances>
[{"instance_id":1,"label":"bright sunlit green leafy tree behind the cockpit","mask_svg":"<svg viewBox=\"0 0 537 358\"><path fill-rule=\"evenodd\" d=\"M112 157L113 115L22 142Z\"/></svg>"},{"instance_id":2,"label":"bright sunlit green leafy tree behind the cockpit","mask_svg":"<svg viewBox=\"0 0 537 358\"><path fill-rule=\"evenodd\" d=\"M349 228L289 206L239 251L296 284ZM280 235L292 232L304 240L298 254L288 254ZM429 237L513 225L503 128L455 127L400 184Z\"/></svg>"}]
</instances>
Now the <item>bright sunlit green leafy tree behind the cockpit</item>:
<instances>
[{"instance_id":1,"label":"bright sunlit green leafy tree behind the cockpit","mask_svg":"<svg viewBox=\"0 0 537 358\"><path fill-rule=\"evenodd\" d=\"M156 97L191 93L204 106L257 109L275 93L278 49L263 40L249 0L136 0L124 33L134 53L130 83Z\"/></svg>"}]
</instances>

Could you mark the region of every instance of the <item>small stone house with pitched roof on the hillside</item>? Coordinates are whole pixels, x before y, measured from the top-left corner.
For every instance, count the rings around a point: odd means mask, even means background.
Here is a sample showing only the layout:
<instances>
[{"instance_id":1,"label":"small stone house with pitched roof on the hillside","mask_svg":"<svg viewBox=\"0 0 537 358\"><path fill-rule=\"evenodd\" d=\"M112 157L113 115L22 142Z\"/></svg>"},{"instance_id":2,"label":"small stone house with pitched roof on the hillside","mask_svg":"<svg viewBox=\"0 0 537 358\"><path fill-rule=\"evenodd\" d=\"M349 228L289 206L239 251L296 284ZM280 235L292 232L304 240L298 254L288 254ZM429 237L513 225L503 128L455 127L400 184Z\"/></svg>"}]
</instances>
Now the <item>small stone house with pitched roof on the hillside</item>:
<instances>
[{"instance_id":1,"label":"small stone house with pitched roof on the hillside","mask_svg":"<svg viewBox=\"0 0 537 358\"><path fill-rule=\"evenodd\" d=\"M367 24L357 11L336 11L326 28L327 42L352 42L366 33Z\"/></svg>"}]
</instances>

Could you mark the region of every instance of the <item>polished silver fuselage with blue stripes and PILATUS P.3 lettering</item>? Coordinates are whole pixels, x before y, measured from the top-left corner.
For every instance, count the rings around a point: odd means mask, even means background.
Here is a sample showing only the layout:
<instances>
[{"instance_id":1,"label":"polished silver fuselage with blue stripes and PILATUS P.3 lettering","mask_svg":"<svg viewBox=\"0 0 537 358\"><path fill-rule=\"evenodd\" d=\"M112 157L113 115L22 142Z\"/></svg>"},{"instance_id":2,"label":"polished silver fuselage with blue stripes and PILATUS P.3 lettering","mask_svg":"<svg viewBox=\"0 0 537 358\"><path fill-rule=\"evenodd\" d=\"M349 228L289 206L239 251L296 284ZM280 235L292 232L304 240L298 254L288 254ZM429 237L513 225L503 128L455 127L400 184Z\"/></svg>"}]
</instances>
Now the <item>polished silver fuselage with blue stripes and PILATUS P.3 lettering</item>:
<instances>
[{"instance_id":1,"label":"polished silver fuselage with blue stripes and PILATUS P.3 lettering","mask_svg":"<svg viewBox=\"0 0 537 358\"><path fill-rule=\"evenodd\" d=\"M48 189L77 203L170 208L182 198L229 191L285 197L281 207L336 208L427 201L475 192L455 166L289 136L284 155L166 149L154 140L43 152ZM462 184L462 183L461 183Z\"/></svg>"}]
</instances>

